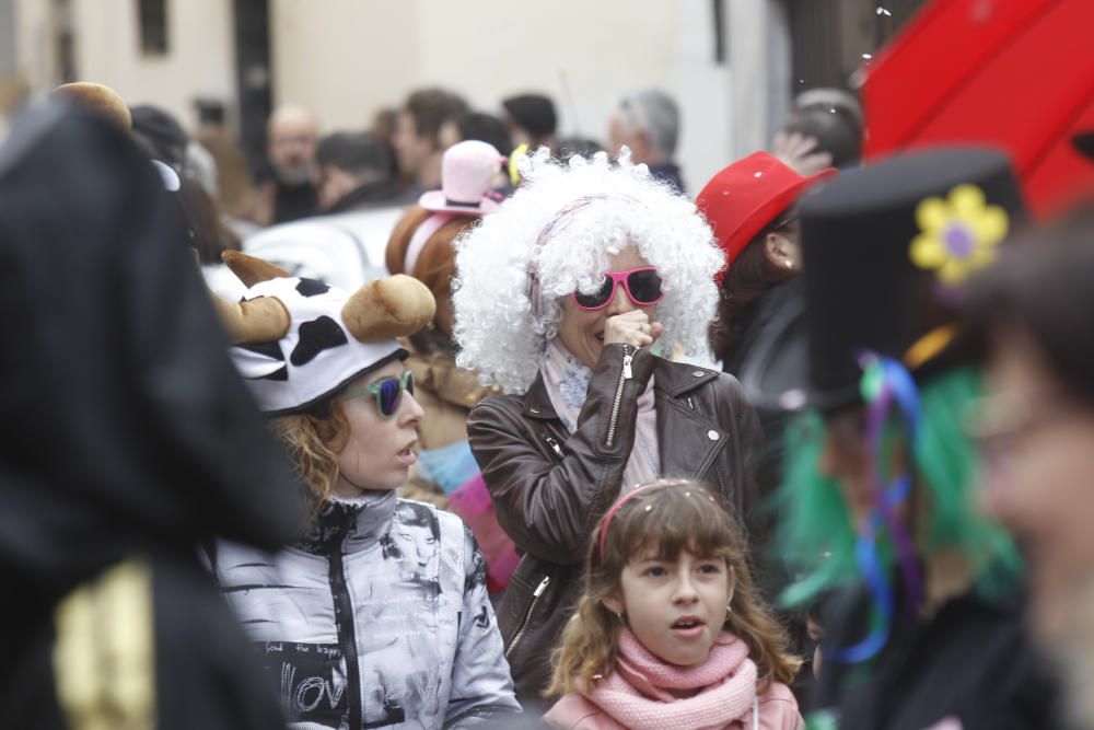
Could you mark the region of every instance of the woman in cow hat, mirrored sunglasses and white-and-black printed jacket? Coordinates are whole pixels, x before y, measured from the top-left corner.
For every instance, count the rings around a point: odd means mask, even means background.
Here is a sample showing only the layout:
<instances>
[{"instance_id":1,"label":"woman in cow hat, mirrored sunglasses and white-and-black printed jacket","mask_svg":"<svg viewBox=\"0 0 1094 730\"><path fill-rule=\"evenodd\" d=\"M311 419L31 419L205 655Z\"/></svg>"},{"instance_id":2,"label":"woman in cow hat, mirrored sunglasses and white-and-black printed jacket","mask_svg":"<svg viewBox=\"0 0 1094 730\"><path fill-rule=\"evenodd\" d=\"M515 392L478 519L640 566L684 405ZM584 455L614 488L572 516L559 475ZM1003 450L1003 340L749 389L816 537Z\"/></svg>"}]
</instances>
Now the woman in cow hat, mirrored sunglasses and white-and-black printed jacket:
<instances>
[{"instance_id":1,"label":"woman in cow hat, mirrored sunglasses and white-and-black printed jacket","mask_svg":"<svg viewBox=\"0 0 1094 730\"><path fill-rule=\"evenodd\" d=\"M243 254L219 302L232 358L295 463L305 534L274 555L222 543L214 575L291 727L452 727L519 711L463 522L399 499L422 409L395 339L433 318L406 276L349 293Z\"/></svg>"}]
</instances>

